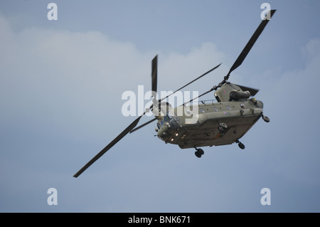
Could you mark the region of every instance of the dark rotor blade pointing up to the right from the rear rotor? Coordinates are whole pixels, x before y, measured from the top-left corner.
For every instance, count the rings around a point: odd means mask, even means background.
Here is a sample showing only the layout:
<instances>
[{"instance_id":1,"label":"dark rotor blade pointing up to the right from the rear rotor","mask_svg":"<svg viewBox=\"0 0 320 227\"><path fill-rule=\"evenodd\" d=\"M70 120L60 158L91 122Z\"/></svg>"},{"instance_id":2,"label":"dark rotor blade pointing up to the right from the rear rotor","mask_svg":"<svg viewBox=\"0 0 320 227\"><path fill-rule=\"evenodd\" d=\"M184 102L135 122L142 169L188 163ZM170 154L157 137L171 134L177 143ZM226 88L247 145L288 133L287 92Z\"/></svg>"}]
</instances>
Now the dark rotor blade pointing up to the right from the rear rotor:
<instances>
[{"instance_id":1,"label":"dark rotor blade pointing up to the right from the rear rotor","mask_svg":"<svg viewBox=\"0 0 320 227\"><path fill-rule=\"evenodd\" d=\"M267 14L270 13L270 19L272 17L272 15L274 14L274 12L276 11L276 9L272 9L271 12L268 12ZM247 45L245 46L245 48L243 48L242 52L240 53L240 55L238 56L237 60L235 60L235 63L233 63L233 66L230 68L229 73L227 75L227 80L228 77L230 75L230 73L235 70L236 68L238 68L243 60L245 60L245 57L247 56L247 54L249 53L249 51L251 50L252 46L255 44L255 41L257 41L257 38L259 38L260 34L262 33L263 29L265 28L265 26L267 25L267 23L270 20L267 19L267 17L260 23L260 26L257 27L257 30L255 31L255 33L253 33L252 37L250 38L250 40L247 42Z\"/></svg>"}]
</instances>

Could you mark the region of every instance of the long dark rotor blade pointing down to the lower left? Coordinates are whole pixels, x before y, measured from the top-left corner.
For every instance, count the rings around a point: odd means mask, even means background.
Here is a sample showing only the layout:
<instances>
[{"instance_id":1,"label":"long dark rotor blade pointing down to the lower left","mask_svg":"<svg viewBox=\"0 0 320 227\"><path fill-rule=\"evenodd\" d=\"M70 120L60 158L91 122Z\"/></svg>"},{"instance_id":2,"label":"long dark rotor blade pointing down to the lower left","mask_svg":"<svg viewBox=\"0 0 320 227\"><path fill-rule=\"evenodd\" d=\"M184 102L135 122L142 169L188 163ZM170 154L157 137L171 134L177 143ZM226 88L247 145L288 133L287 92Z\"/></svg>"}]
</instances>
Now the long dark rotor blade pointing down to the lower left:
<instances>
[{"instance_id":1,"label":"long dark rotor blade pointing down to the lower left","mask_svg":"<svg viewBox=\"0 0 320 227\"><path fill-rule=\"evenodd\" d=\"M82 167L75 175L73 175L74 177L78 177L80 174L82 174L83 171L85 171L85 169L87 169L88 167L90 167L90 165L92 165L95 161L97 161L97 159L99 159L100 157L102 157L103 154L105 154L105 152L107 152L111 147L114 146L114 144L117 144L117 142L119 142L120 139L122 139L126 134L128 134L134 127L137 126L140 118L143 115L141 115L140 117L138 117L136 120L134 120L134 122L131 123L131 125L129 125L125 130L123 130L115 139L112 140L112 142L110 142L110 144L107 144L107 147L105 147L104 149L102 149L101 152L99 152L95 157L93 157L87 164L85 164L84 167Z\"/></svg>"}]
</instances>

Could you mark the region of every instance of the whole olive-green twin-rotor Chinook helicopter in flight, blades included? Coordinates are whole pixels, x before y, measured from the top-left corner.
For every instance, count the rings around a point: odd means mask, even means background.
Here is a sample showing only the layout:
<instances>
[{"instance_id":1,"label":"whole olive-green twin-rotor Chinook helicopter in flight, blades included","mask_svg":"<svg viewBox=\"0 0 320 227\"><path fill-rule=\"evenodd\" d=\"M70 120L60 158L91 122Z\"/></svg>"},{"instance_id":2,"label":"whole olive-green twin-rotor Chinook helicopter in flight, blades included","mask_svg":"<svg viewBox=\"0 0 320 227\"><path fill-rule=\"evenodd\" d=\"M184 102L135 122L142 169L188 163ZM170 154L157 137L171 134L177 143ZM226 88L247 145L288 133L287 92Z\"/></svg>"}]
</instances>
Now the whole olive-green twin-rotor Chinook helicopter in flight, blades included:
<instances>
[{"instance_id":1,"label":"whole olive-green twin-rotor Chinook helicopter in flight, blades included","mask_svg":"<svg viewBox=\"0 0 320 227\"><path fill-rule=\"evenodd\" d=\"M263 103L260 100L256 100L254 97L259 90L230 83L228 82L228 79L230 73L238 68L243 60L245 60L245 57L250 52L255 41L257 41L257 38L260 36L275 11L276 10L273 9L268 12L269 15L262 20L223 80L218 83L218 85L214 85L213 88L206 91L206 93L183 103L181 106L173 108L169 102L162 101L176 93L178 90L185 88L187 85L190 85L204 75L207 75L220 65L203 73L195 80L192 80L190 83L176 90L174 93L171 93L160 100L156 100L158 56L155 56L151 61L152 105L113 139L110 144L107 144L101 152L87 162L74 177L80 176L83 171L90 167L91 164L97 161L97 159L105 154L105 152L119 142L125 135L139 130L155 120L158 120L156 124L156 135L159 139L166 143L177 144L181 149L194 148L196 149L195 154L198 158L204 154L203 149L198 147L212 147L237 143L240 149L245 149L245 145L242 144L239 139L255 125L255 122L257 122L260 117L262 117L265 122L270 122L270 119L263 115ZM194 100L198 100L199 97L213 91L215 91L215 102L214 100L205 100L197 102L196 105L191 105ZM137 127L139 120L149 111L152 111L154 114L154 119Z\"/></svg>"}]
</instances>

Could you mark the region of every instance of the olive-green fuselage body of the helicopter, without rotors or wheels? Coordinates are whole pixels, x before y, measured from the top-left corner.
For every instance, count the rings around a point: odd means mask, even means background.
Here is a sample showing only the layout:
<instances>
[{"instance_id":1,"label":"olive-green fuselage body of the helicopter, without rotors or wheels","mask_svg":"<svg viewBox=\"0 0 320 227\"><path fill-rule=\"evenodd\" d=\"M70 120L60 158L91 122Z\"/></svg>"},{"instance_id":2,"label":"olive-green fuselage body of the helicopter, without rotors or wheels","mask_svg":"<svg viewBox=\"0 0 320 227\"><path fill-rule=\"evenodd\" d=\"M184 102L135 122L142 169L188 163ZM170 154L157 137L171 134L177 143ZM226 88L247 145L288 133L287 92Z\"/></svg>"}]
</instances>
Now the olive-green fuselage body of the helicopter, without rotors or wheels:
<instances>
[{"instance_id":1,"label":"olive-green fuselage body of the helicopter, without rotors or wheels","mask_svg":"<svg viewBox=\"0 0 320 227\"><path fill-rule=\"evenodd\" d=\"M157 136L182 149L238 142L262 117L263 103L254 97L238 101L200 101L199 105L172 108L159 118ZM181 109L181 110L179 110ZM176 112L183 115L176 115Z\"/></svg>"}]
</instances>

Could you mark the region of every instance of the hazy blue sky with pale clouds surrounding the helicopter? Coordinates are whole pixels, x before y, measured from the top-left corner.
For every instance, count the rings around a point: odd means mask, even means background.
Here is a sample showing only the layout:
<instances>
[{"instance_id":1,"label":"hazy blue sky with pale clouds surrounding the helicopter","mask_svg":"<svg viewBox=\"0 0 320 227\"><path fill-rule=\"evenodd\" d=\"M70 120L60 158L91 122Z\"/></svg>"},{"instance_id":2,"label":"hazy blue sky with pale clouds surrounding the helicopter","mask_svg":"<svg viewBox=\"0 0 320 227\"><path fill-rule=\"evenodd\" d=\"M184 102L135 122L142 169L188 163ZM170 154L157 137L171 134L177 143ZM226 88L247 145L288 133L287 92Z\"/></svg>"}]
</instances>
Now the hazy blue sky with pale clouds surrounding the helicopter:
<instances>
[{"instance_id":1,"label":"hazy blue sky with pale clouds surrounding the helicopter","mask_svg":"<svg viewBox=\"0 0 320 227\"><path fill-rule=\"evenodd\" d=\"M53 1L58 21L48 21L50 2L0 2L1 212L320 211L319 1ZM260 89L270 117L242 137L245 150L204 147L197 159L148 125L73 178L135 119L122 115L122 93L151 89L156 54L159 90L222 63L186 88L205 92L228 73L264 2L277 12L230 76Z\"/></svg>"}]
</instances>

